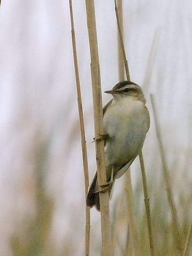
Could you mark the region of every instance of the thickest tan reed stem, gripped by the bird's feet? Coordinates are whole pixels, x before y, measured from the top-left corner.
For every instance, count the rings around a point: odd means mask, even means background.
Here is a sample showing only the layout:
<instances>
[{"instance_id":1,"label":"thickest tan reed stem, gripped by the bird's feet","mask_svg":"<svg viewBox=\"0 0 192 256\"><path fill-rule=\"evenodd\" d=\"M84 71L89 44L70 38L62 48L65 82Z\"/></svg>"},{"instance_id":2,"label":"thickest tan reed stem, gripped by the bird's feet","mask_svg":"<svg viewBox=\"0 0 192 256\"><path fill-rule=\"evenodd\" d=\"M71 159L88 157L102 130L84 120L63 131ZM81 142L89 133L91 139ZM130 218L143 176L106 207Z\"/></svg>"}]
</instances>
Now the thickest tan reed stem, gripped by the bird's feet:
<instances>
[{"instance_id":1,"label":"thickest tan reed stem, gripped by the bird's feet","mask_svg":"<svg viewBox=\"0 0 192 256\"><path fill-rule=\"evenodd\" d=\"M86 14L87 14L87 27L88 27L90 56L91 56L94 130L95 130L95 138L101 138L101 136L104 133L103 133L102 95L101 95L101 86L100 86L100 70L99 70L94 0L86 0ZM100 185L106 184L106 170L105 170L103 140L96 140L96 162L97 162L98 184L100 188ZM108 191L100 192L99 198L100 198L100 210L101 210L102 253L104 256L111 256L112 255L112 238L111 238L111 227L110 227Z\"/></svg>"}]
</instances>

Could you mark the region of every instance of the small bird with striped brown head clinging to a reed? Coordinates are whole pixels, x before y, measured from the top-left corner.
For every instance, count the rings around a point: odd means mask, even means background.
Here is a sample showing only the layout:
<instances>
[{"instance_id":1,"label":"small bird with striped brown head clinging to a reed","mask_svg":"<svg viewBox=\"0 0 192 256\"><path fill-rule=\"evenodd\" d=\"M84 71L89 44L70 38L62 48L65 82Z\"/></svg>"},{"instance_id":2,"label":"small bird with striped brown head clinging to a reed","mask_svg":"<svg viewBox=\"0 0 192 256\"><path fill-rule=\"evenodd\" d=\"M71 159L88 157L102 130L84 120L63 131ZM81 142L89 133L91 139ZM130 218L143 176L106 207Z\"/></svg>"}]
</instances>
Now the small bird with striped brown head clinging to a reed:
<instances>
[{"instance_id":1,"label":"small bird with striped brown head clinging to a reed","mask_svg":"<svg viewBox=\"0 0 192 256\"><path fill-rule=\"evenodd\" d=\"M99 192L109 190L117 178L130 167L142 150L150 127L150 115L141 87L131 81L118 82L112 90L112 99L103 108L104 151L106 181L99 190L97 172L88 189L86 205L100 211Z\"/></svg>"}]
</instances>

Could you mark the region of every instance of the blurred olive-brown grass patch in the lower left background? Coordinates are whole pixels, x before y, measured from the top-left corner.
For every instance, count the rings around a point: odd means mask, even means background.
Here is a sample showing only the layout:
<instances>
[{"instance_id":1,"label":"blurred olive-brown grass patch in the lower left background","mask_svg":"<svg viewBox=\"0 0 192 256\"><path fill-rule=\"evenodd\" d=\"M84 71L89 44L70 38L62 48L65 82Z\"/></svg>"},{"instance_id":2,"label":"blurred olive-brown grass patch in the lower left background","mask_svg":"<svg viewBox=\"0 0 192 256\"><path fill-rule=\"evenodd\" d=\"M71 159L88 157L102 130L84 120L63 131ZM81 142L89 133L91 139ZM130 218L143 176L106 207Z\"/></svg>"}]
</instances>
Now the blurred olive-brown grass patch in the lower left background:
<instances>
[{"instance_id":1,"label":"blurred olive-brown grass patch in the lower left background","mask_svg":"<svg viewBox=\"0 0 192 256\"><path fill-rule=\"evenodd\" d=\"M54 203L48 197L45 187L46 160L48 156L48 142L36 144L35 169L35 193L36 214L26 218L25 224L20 225L18 232L12 236L10 241L14 256L21 255L47 255L52 249L52 243L48 242ZM22 228L21 228L22 227ZM56 251L54 251L56 253Z\"/></svg>"}]
</instances>

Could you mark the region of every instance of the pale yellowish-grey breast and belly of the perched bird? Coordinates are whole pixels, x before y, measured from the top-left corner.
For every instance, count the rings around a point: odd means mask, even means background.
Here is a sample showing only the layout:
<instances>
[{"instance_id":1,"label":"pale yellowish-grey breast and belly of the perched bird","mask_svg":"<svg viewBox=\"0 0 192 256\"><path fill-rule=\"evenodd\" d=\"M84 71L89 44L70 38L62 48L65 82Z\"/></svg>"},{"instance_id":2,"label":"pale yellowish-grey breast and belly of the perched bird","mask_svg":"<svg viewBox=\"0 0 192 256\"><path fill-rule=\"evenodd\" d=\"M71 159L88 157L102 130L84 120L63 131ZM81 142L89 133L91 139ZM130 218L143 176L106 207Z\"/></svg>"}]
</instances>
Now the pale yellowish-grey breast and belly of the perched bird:
<instances>
[{"instance_id":1,"label":"pale yellowish-grey breast and belly of the perched bird","mask_svg":"<svg viewBox=\"0 0 192 256\"><path fill-rule=\"evenodd\" d=\"M104 129L109 135L105 153L107 163L122 166L135 158L142 148L146 128L142 105L133 108L111 108L104 117Z\"/></svg>"}]
</instances>

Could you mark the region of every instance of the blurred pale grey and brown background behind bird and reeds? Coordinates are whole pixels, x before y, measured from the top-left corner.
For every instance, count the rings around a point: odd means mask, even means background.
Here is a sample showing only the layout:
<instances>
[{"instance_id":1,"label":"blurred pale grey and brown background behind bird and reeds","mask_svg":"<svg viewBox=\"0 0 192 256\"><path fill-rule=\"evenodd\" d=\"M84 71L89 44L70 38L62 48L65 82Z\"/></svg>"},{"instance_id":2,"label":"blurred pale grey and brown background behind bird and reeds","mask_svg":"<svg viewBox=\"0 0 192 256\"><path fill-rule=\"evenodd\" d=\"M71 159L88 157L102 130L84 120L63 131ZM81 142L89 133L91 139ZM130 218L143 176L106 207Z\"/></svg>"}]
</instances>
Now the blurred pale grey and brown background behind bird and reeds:
<instances>
[{"instance_id":1,"label":"blurred pale grey and brown background behind bird and reeds","mask_svg":"<svg viewBox=\"0 0 192 256\"><path fill-rule=\"evenodd\" d=\"M112 0L95 1L102 92L118 82ZM74 23L90 180L96 171L90 53L84 0ZM150 93L154 94L182 241L192 213L192 3L123 1L133 82L151 116L143 154L158 255L176 255ZM84 255L85 199L69 4L2 0L0 8L0 255ZM103 104L110 95L103 94ZM149 255L139 161L131 166L138 236ZM124 243L124 176L110 202L116 255ZM91 210L90 255L100 255L100 214ZM192 255L191 246L189 247Z\"/></svg>"}]
</instances>

